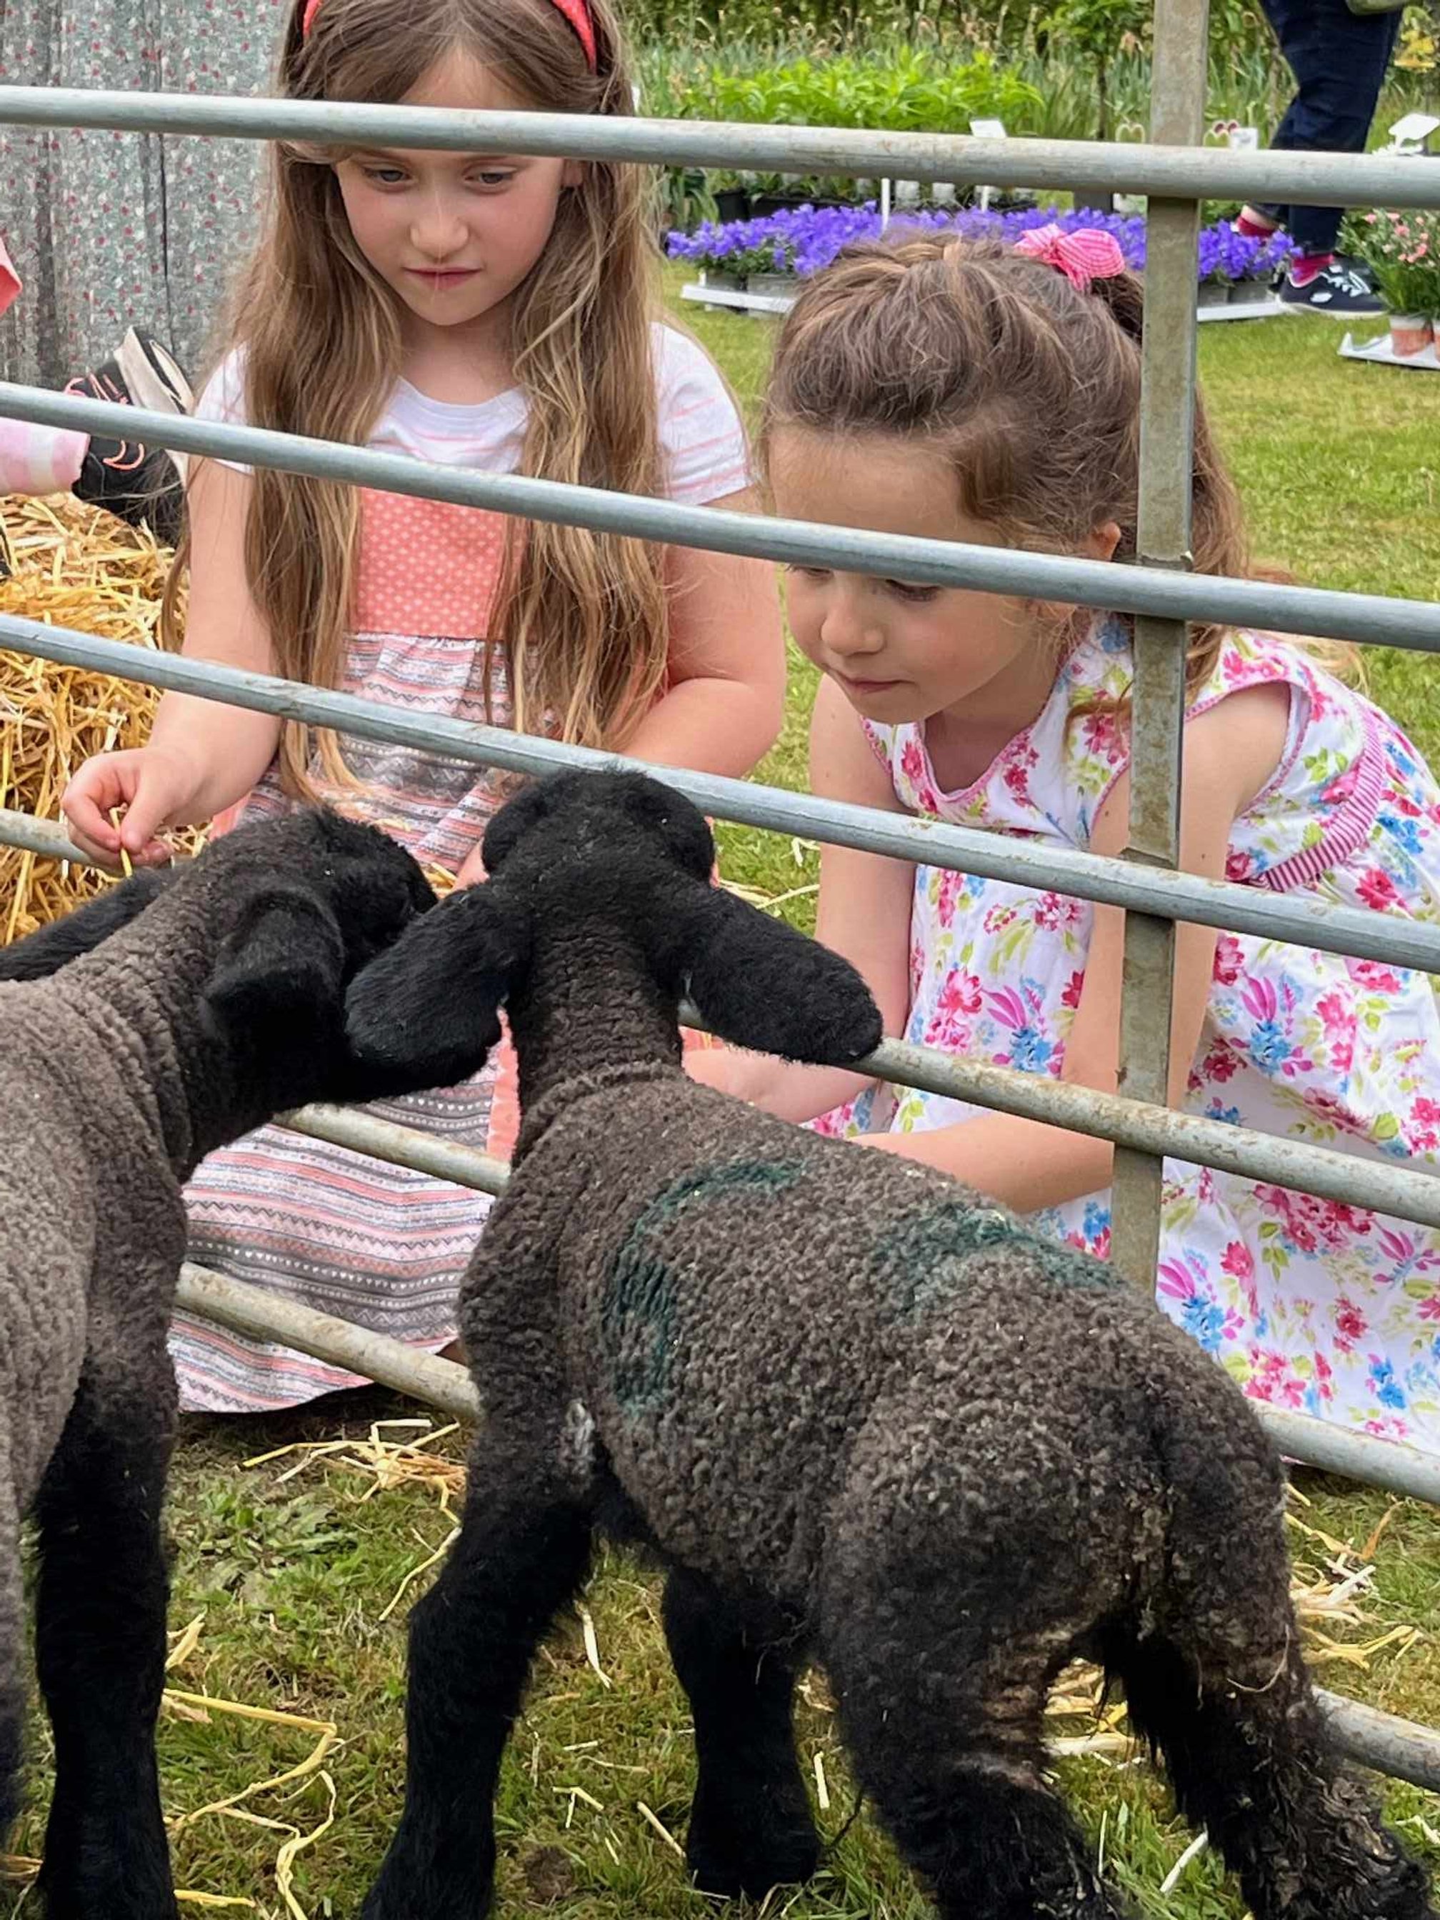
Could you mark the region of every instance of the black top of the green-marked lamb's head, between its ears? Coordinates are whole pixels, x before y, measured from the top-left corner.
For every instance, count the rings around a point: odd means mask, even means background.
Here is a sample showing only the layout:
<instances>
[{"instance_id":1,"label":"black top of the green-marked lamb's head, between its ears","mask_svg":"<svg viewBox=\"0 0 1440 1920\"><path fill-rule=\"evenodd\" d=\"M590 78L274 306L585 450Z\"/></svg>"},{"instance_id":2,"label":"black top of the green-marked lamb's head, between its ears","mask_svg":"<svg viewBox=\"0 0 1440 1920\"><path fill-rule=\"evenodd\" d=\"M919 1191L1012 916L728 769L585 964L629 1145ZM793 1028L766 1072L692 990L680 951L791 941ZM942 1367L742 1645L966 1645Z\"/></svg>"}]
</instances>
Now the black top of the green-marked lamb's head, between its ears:
<instances>
[{"instance_id":1,"label":"black top of the green-marked lamb's head, between its ears","mask_svg":"<svg viewBox=\"0 0 1440 1920\"><path fill-rule=\"evenodd\" d=\"M684 793L647 774L557 774L509 801L486 829L486 868L497 874L516 851L541 858L589 860L607 847L636 851L636 828L695 879L708 879L714 837Z\"/></svg>"}]
</instances>

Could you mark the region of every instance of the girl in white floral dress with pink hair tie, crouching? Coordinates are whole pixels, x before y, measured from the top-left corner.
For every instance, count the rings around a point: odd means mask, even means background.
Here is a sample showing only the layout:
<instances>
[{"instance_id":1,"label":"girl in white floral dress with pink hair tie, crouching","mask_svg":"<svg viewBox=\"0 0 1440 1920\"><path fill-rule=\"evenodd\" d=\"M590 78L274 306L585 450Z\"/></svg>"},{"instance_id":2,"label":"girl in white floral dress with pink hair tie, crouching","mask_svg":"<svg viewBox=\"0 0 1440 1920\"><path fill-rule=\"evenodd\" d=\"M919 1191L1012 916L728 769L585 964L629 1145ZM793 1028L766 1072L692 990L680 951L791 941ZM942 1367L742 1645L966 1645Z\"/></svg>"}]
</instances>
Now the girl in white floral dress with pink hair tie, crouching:
<instances>
[{"instance_id":1,"label":"girl in white floral dress with pink hair tie, crouching","mask_svg":"<svg viewBox=\"0 0 1440 1920\"><path fill-rule=\"evenodd\" d=\"M1140 328L1140 288L1102 234L854 248L804 286L780 338L776 509L1133 561ZM1196 570L1244 574L1204 407L1192 478ZM1129 618L820 568L791 568L787 601L824 674L816 793L1121 851ZM1315 649L1196 624L1181 864L1434 924L1440 793ZM1117 910L831 849L818 931L866 973L887 1031L1114 1091ZM1365 1158L1440 1158L1440 1010L1423 973L1181 927L1171 1060L1171 1102L1190 1112ZM755 1056L701 1054L693 1071L1108 1252L1104 1140ZM1167 1162L1156 1290L1254 1398L1440 1450L1440 1235Z\"/></svg>"}]
</instances>

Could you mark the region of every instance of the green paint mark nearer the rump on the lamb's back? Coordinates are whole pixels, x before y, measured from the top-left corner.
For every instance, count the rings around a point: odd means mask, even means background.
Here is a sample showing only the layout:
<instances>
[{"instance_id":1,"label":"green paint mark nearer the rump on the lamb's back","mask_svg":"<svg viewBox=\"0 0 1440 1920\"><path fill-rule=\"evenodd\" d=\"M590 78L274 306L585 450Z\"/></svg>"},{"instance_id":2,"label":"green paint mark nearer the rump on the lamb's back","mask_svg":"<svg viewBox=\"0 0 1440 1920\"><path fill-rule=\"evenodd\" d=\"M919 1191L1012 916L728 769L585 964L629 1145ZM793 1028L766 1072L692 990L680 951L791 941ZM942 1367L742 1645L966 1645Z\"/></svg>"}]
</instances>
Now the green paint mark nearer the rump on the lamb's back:
<instances>
[{"instance_id":1,"label":"green paint mark nearer the rump on the lamb's back","mask_svg":"<svg viewBox=\"0 0 1440 1920\"><path fill-rule=\"evenodd\" d=\"M927 1213L912 1213L876 1242L889 1315L914 1319L960 1298L968 1277L966 1261L985 1248L1020 1254L1056 1286L1123 1284L1102 1260L1050 1240L998 1208L945 1200Z\"/></svg>"}]
</instances>

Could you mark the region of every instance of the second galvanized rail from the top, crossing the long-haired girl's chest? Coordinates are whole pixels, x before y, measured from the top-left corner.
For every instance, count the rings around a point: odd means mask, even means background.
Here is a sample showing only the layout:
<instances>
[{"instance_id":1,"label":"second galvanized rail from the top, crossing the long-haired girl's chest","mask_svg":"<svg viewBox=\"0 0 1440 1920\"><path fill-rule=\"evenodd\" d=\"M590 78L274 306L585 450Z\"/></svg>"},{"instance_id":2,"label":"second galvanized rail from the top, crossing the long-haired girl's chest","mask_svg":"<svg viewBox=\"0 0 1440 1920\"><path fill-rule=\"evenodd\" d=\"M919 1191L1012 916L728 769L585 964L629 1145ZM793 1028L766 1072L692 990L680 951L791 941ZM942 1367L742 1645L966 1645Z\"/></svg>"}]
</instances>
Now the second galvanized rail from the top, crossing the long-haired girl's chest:
<instances>
[{"instance_id":1,"label":"second galvanized rail from the top, crossing the long-haired girl's chest","mask_svg":"<svg viewBox=\"0 0 1440 1920\"><path fill-rule=\"evenodd\" d=\"M282 472L376 488L382 493L444 499L461 507L486 507L530 520L589 526L607 534L630 534L637 540L712 553L745 553L758 559L837 566L847 572L899 572L920 584L975 588L1021 599L1039 595L1066 605L1098 607L1104 612L1213 620L1221 626L1325 634L1363 645L1440 653L1440 607L1434 601L1116 566L1108 561L1050 553L1014 553L1004 547L970 547L962 541L824 528L808 520L770 520L714 507L680 507L668 499L641 499L601 488L566 486L559 480L532 480L524 474L434 467L397 453L342 447L301 434L148 413L144 407L119 407L111 401L81 399L77 394L52 394L48 388L10 382L0 382L0 419L111 438L129 436L146 445L175 447L248 467L275 467Z\"/></svg>"}]
</instances>

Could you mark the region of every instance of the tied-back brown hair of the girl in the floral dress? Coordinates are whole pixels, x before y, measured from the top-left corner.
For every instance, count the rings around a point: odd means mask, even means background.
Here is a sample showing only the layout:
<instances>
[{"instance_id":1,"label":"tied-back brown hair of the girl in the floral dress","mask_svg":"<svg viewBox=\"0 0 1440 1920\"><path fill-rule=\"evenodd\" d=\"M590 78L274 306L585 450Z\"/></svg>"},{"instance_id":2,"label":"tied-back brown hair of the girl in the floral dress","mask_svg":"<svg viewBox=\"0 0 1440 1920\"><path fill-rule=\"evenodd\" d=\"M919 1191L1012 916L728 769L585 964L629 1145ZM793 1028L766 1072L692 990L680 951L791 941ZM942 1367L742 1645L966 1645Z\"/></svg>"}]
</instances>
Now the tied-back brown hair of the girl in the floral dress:
<instances>
[{"instance_id":1,"label":"tied-back brown hair of the girl in the floral dress","mask_svg":"<svg viewBox=\"0 0 1440 1920\"><path fill-rule=\"evenodd\" d=\"M1135 559L1140 282L1091 292L998 242L924 236L847 248L804 282L776 349L762 445L781 426L900 434L943 453L958 503L1008 545L1079 553L1119 526ZM1194 407L1192 563L1248 574L1240 499ZM1198 685L1225 630L1192 624Z\"/></svg>"}]
</instances>

